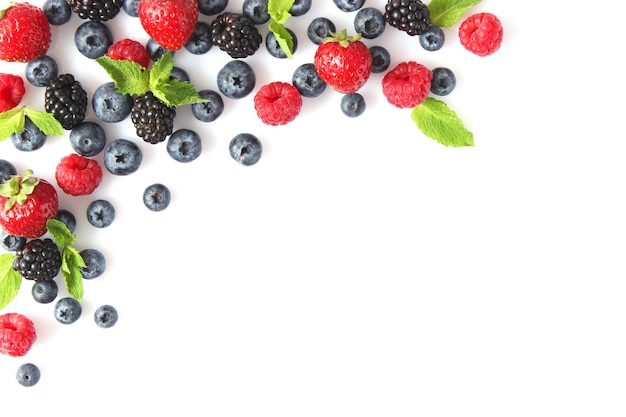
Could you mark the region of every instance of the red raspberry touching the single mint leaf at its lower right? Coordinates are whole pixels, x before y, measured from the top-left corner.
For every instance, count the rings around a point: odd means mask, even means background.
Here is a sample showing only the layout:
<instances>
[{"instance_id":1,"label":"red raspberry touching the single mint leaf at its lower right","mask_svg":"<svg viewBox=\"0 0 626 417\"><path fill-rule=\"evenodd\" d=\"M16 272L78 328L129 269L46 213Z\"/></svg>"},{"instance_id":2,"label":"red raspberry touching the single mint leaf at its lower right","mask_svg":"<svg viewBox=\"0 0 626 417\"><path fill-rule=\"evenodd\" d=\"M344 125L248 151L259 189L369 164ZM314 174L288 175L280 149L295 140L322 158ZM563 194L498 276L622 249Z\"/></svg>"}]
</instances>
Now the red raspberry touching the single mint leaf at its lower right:
<instances>
[{"instance_id":1,"label":"red raspberry touching the single mint leaf at its lower right","mask_svg":"<svg viewBox=\"0 0 626 417\"><path fill-rule=\"evenodd\" d=\"M396 107L413 108L428 96L432 72L417 62L401 62L383 77L383 94Z\"/></svg>"}]
</instances>

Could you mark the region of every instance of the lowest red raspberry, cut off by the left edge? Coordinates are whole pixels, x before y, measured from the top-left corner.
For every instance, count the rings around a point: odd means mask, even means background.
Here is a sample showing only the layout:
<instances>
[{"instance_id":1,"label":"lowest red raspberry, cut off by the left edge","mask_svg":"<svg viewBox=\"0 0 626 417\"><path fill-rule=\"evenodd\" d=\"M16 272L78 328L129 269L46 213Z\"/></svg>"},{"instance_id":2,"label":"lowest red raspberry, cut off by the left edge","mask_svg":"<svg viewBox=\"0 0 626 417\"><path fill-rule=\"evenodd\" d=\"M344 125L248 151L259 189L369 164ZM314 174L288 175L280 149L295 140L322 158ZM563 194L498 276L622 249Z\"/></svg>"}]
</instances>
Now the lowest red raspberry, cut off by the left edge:
<instances>
[{"instance_id":1,"label":"lowest red raspberry, cut off by the left edge","mask_svg":"<svg viewBox=\"0 0 626 417\"><path fill-rule=\"evenodd\" d=\"M35 325L19 313L0 316L0 353L24 356L37 340Z\"/></svg>"}]
</instances>

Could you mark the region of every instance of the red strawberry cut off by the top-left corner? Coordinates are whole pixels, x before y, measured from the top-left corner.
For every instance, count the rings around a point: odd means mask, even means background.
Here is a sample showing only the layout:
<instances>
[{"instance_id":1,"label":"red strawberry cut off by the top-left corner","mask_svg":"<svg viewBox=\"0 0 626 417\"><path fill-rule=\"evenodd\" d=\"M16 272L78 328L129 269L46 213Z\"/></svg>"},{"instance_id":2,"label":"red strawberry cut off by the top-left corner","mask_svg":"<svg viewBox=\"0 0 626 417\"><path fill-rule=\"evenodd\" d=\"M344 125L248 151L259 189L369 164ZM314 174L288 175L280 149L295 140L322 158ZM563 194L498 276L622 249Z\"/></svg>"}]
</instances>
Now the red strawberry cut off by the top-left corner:
<instances>
[{"instance_id":1,"label":"red strawberry cut off by the top-left corner","mask_svg":"<svg viewBox=\"0 0 626 417\"><path fill-rule=\"evenodd\" d=\"M41 8L22 2L0 9L0 60L30 62L48 52L50 40L50 23Z\"/></svg>"}]
</instances>

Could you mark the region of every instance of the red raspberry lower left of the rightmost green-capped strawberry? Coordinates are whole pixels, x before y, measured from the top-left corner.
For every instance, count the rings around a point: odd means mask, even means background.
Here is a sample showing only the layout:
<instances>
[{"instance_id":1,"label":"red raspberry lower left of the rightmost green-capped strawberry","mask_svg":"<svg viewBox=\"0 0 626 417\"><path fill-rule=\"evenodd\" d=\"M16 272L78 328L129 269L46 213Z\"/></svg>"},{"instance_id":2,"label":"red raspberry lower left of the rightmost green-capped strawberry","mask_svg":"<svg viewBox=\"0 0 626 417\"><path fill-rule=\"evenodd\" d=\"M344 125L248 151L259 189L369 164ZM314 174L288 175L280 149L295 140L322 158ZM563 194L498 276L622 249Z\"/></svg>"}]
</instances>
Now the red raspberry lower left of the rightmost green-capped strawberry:
<instances>
[{"instance_id":1,"label":"red raspberry lower left of the rightmost green-capped strawberry","mask_svg":"<svg viewBox=\"0 0 626 417\"><path fill-rule=\"evenodd\" d=\"M292 84L272 82L256 93L254 109L263 123L271 126L284 125L300 113L302 96Z\"/></svg>"}]
</instances>

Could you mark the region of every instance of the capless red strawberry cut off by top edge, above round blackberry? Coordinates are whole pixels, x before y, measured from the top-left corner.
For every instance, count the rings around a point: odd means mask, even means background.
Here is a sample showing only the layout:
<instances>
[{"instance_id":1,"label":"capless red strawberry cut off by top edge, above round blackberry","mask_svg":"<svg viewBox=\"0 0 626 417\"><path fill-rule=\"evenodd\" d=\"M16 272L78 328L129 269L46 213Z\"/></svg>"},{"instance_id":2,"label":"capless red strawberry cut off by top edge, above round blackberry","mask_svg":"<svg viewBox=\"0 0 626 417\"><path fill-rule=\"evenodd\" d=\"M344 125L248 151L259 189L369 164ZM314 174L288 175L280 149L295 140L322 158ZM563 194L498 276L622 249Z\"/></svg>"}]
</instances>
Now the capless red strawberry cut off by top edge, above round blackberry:
<instances>
[{"instance_id":1,"label":"capless red strawberry cut off by top edge, above round blackberry","mask_svg":"<svg viewBox=\"0 0 626 417\"><path fill-rule=\"evenodd\" d=\"M198 22L198 0L141 0L139 21L164 48L176 51L189 40Z\"/></svg>"}]
</instances>

